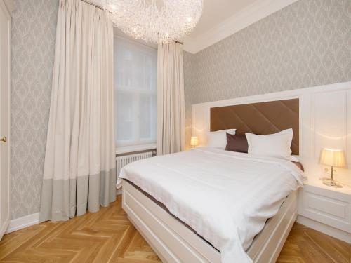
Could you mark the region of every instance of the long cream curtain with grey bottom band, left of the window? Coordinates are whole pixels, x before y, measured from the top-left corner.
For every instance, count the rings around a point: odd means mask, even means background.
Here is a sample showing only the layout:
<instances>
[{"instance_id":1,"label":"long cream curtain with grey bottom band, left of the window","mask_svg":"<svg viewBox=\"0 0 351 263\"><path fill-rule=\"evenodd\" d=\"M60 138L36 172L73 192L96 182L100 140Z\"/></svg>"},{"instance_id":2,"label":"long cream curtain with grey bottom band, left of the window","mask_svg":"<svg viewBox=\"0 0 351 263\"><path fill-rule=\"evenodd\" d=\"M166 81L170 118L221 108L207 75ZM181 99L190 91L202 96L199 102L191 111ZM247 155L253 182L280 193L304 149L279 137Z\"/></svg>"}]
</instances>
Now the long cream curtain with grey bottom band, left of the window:
<instances>
[{"instance_id":1,"label":"long cream curtain with grey bottom band, left of the window","mask_svg":"<svg viewBox=\"0 0 351 263\"><path fill-rule=\"evenodd\" d=\"M60 0L40 220L68 220L116 199L113 25Z\"/></svg>"}]
</instances>

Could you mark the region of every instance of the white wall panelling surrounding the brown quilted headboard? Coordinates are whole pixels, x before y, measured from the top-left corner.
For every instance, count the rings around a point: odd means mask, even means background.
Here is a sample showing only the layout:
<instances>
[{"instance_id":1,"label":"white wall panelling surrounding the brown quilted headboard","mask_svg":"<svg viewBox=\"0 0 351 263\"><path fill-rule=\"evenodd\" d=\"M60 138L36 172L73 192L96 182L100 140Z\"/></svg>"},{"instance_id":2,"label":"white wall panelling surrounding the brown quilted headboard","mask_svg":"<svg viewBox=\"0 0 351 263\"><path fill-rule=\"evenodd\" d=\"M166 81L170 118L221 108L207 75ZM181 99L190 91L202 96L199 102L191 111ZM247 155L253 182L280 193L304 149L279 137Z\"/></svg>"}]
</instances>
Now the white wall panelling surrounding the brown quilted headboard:
<instances>
[{"instance_id":1,"label":"white wall panelling surrounding the brown quilted headboard","mask_svg":"<svg viewBox=\"0 0 351 263\"><path fill-rule=\"evenodd\" d=\"M322 147L344 149L348 169L337 169L336 179L351 186L351 82L267 93L192 105L192 133L206 145L211 107L300 98L300 156L307 176L322 177Z\"/></svg>"}]
</instances>

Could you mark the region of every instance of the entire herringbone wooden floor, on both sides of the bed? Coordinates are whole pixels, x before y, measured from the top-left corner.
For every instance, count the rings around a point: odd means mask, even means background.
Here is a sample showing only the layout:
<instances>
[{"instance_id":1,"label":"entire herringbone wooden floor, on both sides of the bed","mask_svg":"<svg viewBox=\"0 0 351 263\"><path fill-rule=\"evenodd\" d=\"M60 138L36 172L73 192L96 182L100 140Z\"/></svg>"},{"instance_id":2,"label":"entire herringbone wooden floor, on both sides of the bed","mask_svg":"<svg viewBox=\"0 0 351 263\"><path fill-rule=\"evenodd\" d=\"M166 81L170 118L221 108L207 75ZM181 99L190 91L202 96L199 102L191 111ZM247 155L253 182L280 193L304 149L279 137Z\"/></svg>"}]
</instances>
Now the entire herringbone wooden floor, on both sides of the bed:
<instances>
[{"instance_id":1,"label":"entire herringbone wooden floor, on both sides of the bed","mask_svg":"<svg viewBox=\"0 0 351 263\"><path fill-rule=\"evenodd\" d=\"M295 224L278 262L351 263L351 245ZM159 257L128 221L121 198L98 213L45 222L0 241L0 262L156 263Z\"/></svg>"}]
</instances>

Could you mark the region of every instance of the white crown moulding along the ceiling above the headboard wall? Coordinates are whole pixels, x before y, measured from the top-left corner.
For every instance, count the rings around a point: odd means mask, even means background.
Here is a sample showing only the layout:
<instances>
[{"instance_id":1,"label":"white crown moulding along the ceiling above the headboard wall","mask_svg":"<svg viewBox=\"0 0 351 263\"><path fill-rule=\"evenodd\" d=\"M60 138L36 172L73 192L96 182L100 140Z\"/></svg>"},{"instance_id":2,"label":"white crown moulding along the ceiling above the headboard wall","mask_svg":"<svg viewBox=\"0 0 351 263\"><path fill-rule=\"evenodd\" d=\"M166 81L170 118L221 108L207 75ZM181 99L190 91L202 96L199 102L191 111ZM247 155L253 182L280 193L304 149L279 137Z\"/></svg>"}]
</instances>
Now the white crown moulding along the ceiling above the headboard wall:
<instances>
[{"instance_id":1,"label":"white crown moulding along the ceiling above the headboard wall","mask_svg":"<svg viewBox=\"0 0 351 263\"><path fill-rule=\"evenodd\" d=\"M197 37L187 36L183 49L193 54L197 53L296 1L298 0L257 0L204 34Z\"/></svg>"}]
</instances>

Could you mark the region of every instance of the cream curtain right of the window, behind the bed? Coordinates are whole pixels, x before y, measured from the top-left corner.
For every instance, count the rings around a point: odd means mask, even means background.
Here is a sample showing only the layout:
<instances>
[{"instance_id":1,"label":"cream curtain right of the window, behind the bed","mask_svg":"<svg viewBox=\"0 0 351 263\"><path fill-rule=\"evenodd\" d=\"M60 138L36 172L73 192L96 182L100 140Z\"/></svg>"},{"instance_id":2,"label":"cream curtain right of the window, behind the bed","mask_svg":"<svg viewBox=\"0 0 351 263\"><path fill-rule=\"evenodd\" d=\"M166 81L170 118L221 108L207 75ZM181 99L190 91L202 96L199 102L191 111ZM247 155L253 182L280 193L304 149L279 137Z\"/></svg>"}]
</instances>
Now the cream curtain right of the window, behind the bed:
<instances>
[{"instance_id":1,"label":"cream curtain right of the window, behind the bed","mask_svg":"<svg viewBox=\"0 0 351 263\"><path fill-rule=\"evenodd\" d=\"M183 151L185 105L183 48L159 44L157 53L157 155Z\"/></svg>"}]
</instances>

